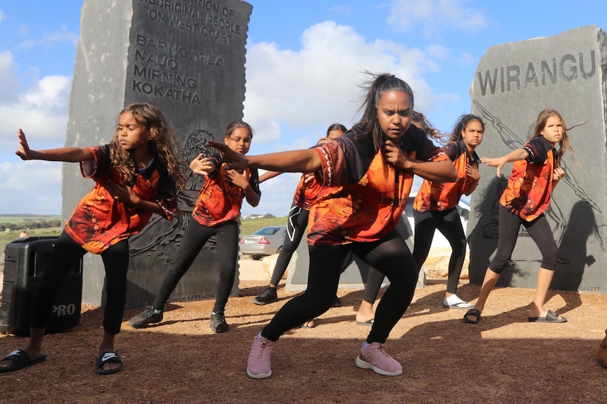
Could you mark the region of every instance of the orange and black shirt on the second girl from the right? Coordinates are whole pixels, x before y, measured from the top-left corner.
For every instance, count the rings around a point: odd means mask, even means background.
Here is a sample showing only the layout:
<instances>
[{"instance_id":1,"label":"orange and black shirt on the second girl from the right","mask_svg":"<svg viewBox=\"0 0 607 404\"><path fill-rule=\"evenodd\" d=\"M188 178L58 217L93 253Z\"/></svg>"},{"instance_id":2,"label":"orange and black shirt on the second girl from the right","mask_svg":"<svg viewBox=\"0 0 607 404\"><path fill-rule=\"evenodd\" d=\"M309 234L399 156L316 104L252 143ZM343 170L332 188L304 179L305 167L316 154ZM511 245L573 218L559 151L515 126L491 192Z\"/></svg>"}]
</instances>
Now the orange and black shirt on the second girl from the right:
<instances>
[{"instance_id":1,"label":"orange and black shirt on the second girl from the right","mask_svg":"<svg viewBox=\"0 0 607 404\"><path fill-rule=\"evenodd\" d=\"M461 196L468 189L473 179L466 174L468 164L478 167L479 158L476 152L470 156L468 147L463 141L449 143L442 150L449 156L458 172L454 183L437 183L424 180L418 195L415 196L413 209L416 211L446 211L457 206Z\"/></svg>"}]
</instances>

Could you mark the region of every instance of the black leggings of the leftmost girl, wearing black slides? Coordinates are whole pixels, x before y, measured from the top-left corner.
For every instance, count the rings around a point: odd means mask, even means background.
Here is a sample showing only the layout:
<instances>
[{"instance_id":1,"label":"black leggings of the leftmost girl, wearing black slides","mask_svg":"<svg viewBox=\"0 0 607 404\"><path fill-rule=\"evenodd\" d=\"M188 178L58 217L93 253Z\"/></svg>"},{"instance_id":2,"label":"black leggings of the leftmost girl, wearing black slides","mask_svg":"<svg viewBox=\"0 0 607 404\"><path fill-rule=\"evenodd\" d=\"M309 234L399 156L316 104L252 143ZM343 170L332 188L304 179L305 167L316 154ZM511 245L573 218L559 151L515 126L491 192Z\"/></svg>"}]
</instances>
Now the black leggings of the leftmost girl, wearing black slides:
<instances>
[{"instance_id":1,"label":"black leggings of the leftmost girl, wearing black slides","mask_svg":"<svg viewBox=\"0 0 607 404\"><path fill-rule=\"evenodd\" d=\"M59 236L53 253L46 264L32 306L32 327L46 328L49 325L53 301L61 282L70 270L79 263L87 250L80 247L65 231ZM127 299L127 270L129 268L129 242L123 240L101 253L106 270L106 307L104 331L118 334L123 322Z\"/></svg>"}]
</instances>

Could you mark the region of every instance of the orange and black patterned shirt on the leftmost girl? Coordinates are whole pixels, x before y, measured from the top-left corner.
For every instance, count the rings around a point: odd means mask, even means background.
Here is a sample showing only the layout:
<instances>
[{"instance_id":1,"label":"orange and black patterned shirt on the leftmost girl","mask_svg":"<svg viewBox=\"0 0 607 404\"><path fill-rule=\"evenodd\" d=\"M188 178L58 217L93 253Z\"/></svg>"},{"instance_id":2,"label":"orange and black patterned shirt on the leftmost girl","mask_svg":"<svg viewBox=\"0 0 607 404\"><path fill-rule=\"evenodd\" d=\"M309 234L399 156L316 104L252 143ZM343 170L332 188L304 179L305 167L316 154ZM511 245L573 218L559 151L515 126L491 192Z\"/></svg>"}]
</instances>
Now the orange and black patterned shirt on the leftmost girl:
<instances>
[{"instance_id":1,"label":"orange and black patterned shirt on the leftmost girl","mask_svg":"<svg viewBox=\"0 0 607 404\"><path fill-rule=\"evenodd\" d=\"M93 178L94 188L77 204L65 223L65 233L92 254L101 254L117 242L139 233L148 223L152 212L131 207L114 200L106 189L108 180L122 183L110 161L109 145L87 148L94 160L80 162L85 178ZM142 200L156 202L165 211L168 220L177 209L177 190L171 178L154 157L145 169L128 184Z\"/></svg>"}]
</instances>

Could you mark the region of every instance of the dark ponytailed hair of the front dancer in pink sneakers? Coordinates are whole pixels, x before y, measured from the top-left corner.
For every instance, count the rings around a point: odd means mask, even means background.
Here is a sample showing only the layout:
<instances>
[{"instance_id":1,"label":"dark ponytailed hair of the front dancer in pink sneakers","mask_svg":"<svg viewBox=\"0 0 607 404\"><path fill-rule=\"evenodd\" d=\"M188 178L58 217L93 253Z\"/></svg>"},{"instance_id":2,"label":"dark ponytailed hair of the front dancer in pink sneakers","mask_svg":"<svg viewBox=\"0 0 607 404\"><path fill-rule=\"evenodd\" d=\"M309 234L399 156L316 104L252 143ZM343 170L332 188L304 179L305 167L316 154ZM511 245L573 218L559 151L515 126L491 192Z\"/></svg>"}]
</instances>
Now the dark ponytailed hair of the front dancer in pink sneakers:
<instances>
[{"instance_id":1,"label":"dark ponytailed hair of the front dancer in pink sneakers","mask_svg":"<svg viewBox=\"0 0 607 404\"><path fill-rule=\"evenodd\" d=\"M373 144L375 145L375 151L377 151L382 147L384 140L382 128L376 119L377 104L380 103L382 93L404 91L411 98L411 107L413 107L413 90L406 82L394 76L394 74L373 74L371 72L365 72L365 74L370 79L362 86L363 89L366 89L367 93L363 98L363 104L358 108L358 112L361 114L358 125L363 129L363 133L359 134L356 139L362 141L369 136L373 136Z\"/></svg>"}]
</instances>

